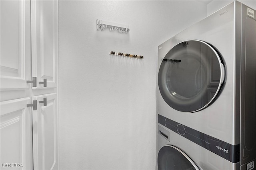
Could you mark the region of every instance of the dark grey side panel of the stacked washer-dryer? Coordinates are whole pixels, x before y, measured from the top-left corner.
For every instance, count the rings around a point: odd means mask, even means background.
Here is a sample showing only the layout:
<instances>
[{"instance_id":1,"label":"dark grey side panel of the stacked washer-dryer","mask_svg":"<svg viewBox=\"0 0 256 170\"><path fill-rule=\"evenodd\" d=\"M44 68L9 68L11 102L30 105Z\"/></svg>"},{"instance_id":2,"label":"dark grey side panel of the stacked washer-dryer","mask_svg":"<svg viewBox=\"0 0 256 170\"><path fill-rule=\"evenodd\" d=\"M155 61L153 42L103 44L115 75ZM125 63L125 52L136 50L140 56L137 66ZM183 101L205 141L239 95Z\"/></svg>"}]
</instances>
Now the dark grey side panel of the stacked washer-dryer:
<instances>
[{"instance_id":1,"label":"dark grey side panel of the stacked washer-dryer","mask_svg":"<svg viewBox=\"0 0 256 170\"><path fill-rule=\"evenodd\" d=\"M241 165L249 164L249 166L256 158L255 14L255 10L242 4L240 162ZM256 164L256 162L252 164ZM247 168L247 170L251 169Z\"/></svg>"}]
</instances>

